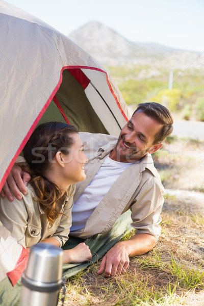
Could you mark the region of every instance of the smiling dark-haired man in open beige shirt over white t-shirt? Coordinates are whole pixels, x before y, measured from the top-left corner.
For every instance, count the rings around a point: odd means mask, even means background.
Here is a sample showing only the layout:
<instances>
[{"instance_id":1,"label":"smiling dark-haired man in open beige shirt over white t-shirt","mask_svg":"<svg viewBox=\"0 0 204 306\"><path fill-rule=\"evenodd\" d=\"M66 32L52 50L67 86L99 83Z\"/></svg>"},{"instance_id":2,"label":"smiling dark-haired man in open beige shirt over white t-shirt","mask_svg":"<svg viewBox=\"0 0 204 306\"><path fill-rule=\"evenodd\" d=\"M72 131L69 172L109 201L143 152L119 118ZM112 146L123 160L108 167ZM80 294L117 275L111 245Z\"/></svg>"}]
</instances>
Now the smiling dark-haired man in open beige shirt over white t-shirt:
<instances>
[{"instance_id":1,"label":"smiling dark-haired man in open beige shirt over white t-shirt","mask_svg":"<svg viewBox=\"0 0 204 306\"><path fill-rule=\"evenodd\" d=\"M172 124L167 108L152 102L138 105L118 138L80 133L89 161L86 180L77 184L74 195L70 236L86 239L106 233L127 210L135 228L131 239L116 243L106 253L98 274L104 270L108 277L123 273L130 257L144 254L157 242L164 189L151 154L171 134ZM23 192L22 183L19 188ZM8 186L4 191L11 195ZM16 188L13 193L19 195Z\"/></svg>"}]
</instances>

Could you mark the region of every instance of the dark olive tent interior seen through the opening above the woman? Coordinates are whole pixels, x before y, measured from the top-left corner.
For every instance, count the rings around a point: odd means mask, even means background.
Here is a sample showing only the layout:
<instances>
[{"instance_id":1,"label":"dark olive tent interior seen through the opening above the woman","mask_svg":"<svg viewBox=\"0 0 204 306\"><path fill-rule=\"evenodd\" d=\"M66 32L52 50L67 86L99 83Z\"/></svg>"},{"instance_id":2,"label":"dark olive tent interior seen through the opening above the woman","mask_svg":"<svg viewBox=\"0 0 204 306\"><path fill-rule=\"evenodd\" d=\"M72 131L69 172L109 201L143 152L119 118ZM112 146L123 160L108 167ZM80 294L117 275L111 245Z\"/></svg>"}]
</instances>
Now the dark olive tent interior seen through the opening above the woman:
<instances>
[{"instance_id":1,"label":"dark olive tent interior seen through the opening above the woman","mask_svg":"<svg viewBox=\"0 0 204 306\"><path fill-rule=\"evenodd\" d=\"M79 132L109 134L91 106L83 86L67 69L62 73L60 88L38 124L48 121L70 122Z\"/></svg>"}]
</instances>

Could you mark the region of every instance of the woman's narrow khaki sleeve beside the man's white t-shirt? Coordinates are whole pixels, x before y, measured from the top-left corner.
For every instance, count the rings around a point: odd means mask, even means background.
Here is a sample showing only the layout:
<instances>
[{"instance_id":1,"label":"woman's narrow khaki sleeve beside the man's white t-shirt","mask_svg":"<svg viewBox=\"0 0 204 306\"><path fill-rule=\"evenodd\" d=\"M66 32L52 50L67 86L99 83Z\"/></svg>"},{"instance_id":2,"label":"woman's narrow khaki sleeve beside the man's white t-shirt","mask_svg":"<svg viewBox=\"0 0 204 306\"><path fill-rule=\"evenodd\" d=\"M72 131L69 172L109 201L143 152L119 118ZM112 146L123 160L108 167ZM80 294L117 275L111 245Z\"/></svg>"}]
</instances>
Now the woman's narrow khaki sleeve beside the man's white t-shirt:
<instances>
[{"instance_id":1,"label":"woman's narrow khaki sleeve beside the man's white t-shirt","mask_svg":"<svg viewBox=\"0 0 204 306\"><path fill-rule=\"evenodd\" d=\"M60 218L60 223L58 225L57 231L53 234L53 237L57 239L62 247L65 242L68 240L69 230L71 227L71 210L73 207L73 195L75 192L75 184L71 186L69 191L69 197L62 211L63 215Z\"/></svg>"}]
</instances>

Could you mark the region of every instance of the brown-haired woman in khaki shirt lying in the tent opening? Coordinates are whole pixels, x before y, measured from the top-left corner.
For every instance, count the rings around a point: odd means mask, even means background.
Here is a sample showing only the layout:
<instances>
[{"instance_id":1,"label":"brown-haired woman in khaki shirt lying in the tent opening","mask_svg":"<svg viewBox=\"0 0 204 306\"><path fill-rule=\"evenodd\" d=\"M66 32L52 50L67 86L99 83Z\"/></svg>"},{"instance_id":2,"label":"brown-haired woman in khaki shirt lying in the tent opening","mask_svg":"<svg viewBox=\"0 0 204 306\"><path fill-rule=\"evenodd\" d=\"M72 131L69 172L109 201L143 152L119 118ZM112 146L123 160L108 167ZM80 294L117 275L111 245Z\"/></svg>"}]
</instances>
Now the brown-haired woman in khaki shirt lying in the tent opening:
<instances>
[{"instance_id":1,"label":"brown-haired woman in khaki shirt lying in the tent opening","mask_svg":"<svg viewBox=\"0 0 204 306\"><path fill-rule=\"evenodd\" d=\"M68 239L75 183L86 178L87 157L74 126L41 124L23 149L31 181L27 195L16 203L0 199L0 220L26 248L43 242L61 247ZM91 260L85 243L64 250L63 263Z\"/></svg>"}]
</instances>

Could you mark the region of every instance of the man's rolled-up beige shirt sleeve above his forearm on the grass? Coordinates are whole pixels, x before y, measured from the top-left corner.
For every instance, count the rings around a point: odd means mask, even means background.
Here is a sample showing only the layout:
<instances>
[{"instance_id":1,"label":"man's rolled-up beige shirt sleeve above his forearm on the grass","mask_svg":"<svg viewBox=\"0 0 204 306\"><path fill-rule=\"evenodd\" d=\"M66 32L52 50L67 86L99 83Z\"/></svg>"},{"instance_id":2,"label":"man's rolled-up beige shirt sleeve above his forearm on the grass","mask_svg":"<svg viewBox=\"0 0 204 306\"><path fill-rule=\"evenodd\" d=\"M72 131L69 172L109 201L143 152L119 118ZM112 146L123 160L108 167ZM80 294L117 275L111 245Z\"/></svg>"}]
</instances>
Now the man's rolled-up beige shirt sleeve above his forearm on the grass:
<instances>
[{"instance_id":1,"label":"man's rolled-up beige shirt sleeve above his forearm on the grass","mask_svg":"<svg viewBox=\"0 0 204 306\"><path fill-rule=\"evenodd\" d=\"M136 233L146 233L159 238L163 192L159 177L151 177L141 187L131 206L131 226L135 228Z\"/></svg>"}]
</instances>

